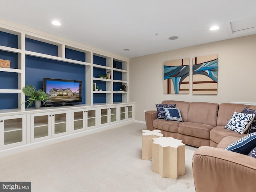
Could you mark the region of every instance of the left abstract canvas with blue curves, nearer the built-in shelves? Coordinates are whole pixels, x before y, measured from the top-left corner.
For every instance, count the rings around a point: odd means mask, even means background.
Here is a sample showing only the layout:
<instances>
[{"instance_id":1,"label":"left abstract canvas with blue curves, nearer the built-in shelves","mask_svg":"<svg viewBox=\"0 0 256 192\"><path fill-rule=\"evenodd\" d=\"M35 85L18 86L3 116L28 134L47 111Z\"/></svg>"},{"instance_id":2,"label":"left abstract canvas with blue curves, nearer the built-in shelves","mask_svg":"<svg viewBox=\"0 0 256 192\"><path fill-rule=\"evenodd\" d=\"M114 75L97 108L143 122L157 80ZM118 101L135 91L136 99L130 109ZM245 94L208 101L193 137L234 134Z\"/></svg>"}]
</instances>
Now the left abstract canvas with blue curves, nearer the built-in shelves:
<instances>
[{"instance_id":1,"label":"left abstract canvas with blue curves, nearer the built-in shelves","mask_svg":"<svg viewBox=\"0 0 256 192\"><path fill-rule=\"evenodd\" d=\"M189 58L164 62L164 94L189 93Z\"/></svg>"}]
</instances>

